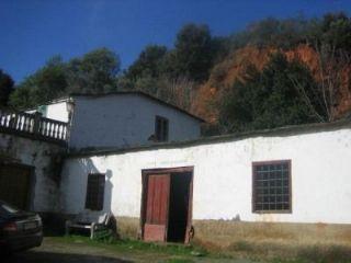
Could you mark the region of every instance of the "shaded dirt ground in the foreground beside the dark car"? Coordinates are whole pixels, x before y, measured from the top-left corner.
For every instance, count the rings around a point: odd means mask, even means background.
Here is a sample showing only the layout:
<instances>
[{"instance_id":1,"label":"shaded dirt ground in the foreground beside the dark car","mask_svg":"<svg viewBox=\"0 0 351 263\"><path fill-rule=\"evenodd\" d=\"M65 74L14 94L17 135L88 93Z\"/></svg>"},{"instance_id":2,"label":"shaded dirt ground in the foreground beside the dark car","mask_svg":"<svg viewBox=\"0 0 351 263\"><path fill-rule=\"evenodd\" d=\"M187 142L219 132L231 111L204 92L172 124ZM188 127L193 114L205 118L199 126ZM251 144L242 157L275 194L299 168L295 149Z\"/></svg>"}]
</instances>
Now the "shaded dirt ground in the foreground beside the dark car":
<instances>
[{"instance_id":1,"label":"shaded dirt ground in the foreground beside the dark car","mask_svg":"<svg viewBox=\"0 0 351 263\"><path fill-rule=\"evenodd\" d=\"M2 259L3 260L3 259ZM170 254L147 251L112 251L103 245L84 242L60 242L45 238L42 247L7 258L5 263L124 263L124 262L167 262L167 263L253 263L247 260L179 258Z\"/></svg>"}]
</instances>

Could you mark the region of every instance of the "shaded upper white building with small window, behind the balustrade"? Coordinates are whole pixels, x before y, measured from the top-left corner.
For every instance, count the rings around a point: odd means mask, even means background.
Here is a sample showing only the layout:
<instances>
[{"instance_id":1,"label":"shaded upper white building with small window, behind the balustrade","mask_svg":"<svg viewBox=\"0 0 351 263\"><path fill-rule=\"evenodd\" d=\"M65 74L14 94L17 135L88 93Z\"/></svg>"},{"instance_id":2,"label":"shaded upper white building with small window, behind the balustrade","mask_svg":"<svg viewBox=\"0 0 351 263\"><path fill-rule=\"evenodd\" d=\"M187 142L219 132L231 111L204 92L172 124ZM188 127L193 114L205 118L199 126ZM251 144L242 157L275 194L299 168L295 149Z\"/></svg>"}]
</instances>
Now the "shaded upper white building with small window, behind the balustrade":
<instances>
[{"instance_id":1,"label":"shaded upper white building with small window, behind the balustrade","mask_svg":"<svg viewBox=\"0 0 351 263\"><path fill-rule=\"evenodd\" d=\"M70 124L68 146L75 149L196 139L204 122L143 92L72 94L39 106L39 112Z\"/></svg>"}]
</instances>

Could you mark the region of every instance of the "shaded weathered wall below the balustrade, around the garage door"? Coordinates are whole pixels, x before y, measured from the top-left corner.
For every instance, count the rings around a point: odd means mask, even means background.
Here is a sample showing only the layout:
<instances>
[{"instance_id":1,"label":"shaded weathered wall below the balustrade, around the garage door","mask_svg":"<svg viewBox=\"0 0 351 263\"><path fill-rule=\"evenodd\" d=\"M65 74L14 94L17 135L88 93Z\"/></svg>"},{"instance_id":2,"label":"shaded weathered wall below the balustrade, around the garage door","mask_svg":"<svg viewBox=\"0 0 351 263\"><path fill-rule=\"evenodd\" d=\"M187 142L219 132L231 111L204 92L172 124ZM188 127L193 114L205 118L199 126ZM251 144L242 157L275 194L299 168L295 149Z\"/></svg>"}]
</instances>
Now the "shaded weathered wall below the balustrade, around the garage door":
<instances>
[{"instance_id":1,"label":"shaded weathered wall below the balustrade, around the garage door","mask_svg":"<svg viewBox=\"0 0 351 263\"><path fill-rule=\"evenodd\" d=\"M14 163L34 167L30 186L31 209L57 211L59 208L59 169L53 162L63 151L65 148L50 142L0 133L0 156L12 159Z\"/></svg>"}]
</instances>

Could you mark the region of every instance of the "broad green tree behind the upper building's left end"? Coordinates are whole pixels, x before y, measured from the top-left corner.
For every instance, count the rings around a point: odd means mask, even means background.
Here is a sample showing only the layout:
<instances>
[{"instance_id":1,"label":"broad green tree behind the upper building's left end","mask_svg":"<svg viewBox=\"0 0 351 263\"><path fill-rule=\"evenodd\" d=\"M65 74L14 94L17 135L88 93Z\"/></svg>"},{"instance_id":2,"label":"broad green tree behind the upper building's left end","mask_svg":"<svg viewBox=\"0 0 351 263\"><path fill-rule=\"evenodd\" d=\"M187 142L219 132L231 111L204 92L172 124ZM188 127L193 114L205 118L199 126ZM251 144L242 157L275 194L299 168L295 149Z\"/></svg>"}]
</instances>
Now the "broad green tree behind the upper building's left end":
<instances>
[{"instance_id":1,"label":"broad green tree behind the upper building's left end","mask_svg":"<svg viewBox=\"0 0 351 263\"><path fill-rule=\"evenodd\" d=\"M118 57L106 48L95 49L69 62L55 56L16 87L10 104L16 108L26 108L72 92L111 91L115 88L118 71Z\"/></svg>"}]
</instances>

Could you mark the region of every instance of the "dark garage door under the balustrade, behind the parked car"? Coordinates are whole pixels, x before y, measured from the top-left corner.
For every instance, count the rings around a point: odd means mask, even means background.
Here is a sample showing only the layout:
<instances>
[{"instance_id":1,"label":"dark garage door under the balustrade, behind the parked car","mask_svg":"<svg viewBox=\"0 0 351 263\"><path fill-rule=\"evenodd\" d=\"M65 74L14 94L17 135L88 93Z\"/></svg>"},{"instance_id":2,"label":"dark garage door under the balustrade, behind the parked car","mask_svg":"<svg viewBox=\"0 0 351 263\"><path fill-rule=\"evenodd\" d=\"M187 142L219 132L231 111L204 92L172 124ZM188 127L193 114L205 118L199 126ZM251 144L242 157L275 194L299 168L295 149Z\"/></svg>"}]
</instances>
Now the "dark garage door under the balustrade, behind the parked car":
<instances>
[{"instance_id":1,"label":"dark garage door under the balustrade, behind the parked car","mask_svg":"<svg viewBox=\"0 0 351 263\"><path fill-rule=\"evenodd\" d=\"M0 164L0 199L21 209L29 208L31 174L31 167Z\"/></svg>"}]
</instances>

